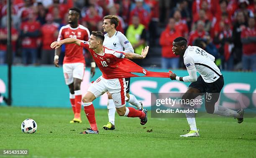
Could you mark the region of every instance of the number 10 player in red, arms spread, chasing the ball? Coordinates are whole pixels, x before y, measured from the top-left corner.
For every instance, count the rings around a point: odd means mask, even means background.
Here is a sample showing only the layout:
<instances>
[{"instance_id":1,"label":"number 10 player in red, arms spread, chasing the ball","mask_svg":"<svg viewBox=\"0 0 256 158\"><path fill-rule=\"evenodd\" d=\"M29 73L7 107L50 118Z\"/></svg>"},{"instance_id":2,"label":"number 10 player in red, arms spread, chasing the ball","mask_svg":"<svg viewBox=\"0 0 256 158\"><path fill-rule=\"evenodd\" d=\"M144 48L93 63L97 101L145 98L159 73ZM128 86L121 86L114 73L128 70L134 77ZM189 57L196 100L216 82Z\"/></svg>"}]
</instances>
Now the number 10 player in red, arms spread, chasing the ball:
<instances>
[{"instance_id":1,"label":"number 10 player in red, arms spread, chasing the ball","mask_svg":"<svg viewBox=\"0 0 256 158\"><path fill-rule=\"evenodd\" d=\"M145 125L147 122L147 110L136 110L133 107L125 107L126 97L126 84L125 77L126 72L118 67L118 63L126 59L144 59L148 53L148 46L142 49L141 55L135 53L124 53L120 51L114 51L103 46L104 35L100 31L92 31L92 35L88 42L82 41L76 38L67 38L61 41L55 41L51 43L51 48L59 48L61 44L75 43L78 46L86 48L90 51L97 66L102 72L100 76L89 87L86 94L82 98L82 104L84 105L84 112L87 119L90 122L91 128L81 132L81 134L98 134L97 124L95 120L95 110L92 101L97 97L100 97L105 92L112 94L116 111L120 116L127 117L139 117L141 119L141 125ZM132 68L131 68L132 69Z\"/></svg>"}]
</instances>

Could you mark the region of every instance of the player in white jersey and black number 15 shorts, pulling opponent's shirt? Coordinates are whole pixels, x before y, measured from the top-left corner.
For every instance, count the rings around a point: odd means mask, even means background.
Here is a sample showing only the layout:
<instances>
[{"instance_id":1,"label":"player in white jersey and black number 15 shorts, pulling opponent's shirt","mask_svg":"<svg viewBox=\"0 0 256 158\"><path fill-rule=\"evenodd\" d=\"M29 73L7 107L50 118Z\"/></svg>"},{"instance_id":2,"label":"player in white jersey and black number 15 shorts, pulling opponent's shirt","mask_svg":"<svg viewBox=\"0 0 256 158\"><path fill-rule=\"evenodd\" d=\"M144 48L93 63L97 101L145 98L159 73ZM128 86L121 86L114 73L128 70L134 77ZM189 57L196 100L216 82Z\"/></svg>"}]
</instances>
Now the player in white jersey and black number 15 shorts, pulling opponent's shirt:
<instances>
[{"instance_id":1,"label":"player in white jersey and black number 15 shorts, pulling opponent's shirt","mask_svg":"<svg viewBox=\"0 0 256 158\"><path fill-rule=\"evenodd\" d=\"M170 74L172 80L192 82L182 99L195 99L197 96L205 94L205 109L207 113L233 116L238 123L243 122L244 111L238 112L228 109L227 107L215 105L219 99L220 91L224 86L224 78L220 69L214 63L214 56L207 53L200 47L187 46L187 39L178 37L174 39L172 51L175 55L183 55L184 64L187 67L189 76L180 77L176 74ZM197 77L197 72L200 74ZM185 109L192 109L189 104L184 104ZM199 133L195 122L194 113L186 113L187 121L190 126L189 133L180 135L181 137L198 137Z\"/></svg>"}]
</instances>

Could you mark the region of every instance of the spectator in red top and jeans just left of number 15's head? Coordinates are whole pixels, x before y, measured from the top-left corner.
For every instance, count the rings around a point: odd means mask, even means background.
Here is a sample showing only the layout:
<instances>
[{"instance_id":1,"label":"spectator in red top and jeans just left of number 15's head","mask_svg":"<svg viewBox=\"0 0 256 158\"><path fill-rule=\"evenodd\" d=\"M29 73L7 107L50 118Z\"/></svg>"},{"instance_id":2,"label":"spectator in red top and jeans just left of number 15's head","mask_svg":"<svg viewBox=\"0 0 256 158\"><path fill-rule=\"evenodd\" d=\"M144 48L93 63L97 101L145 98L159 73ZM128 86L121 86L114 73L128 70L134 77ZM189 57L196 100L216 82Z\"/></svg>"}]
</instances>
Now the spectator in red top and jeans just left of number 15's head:
<instances>
[{"instance_id":1,"label":"spectator in red top and jeans just left of number 15's head","mask_svg":"<svg viewBox=\"0 0 256 158\"><path fill-rule=\"evenodd\" d=\"M166 29L161 33L160 45L162 46L162 69L177 69L179 67L179 56L172 52L172 42L181 36L179 30L175 29L174 18L169 19Z\"/></svg>"}]
</instances>

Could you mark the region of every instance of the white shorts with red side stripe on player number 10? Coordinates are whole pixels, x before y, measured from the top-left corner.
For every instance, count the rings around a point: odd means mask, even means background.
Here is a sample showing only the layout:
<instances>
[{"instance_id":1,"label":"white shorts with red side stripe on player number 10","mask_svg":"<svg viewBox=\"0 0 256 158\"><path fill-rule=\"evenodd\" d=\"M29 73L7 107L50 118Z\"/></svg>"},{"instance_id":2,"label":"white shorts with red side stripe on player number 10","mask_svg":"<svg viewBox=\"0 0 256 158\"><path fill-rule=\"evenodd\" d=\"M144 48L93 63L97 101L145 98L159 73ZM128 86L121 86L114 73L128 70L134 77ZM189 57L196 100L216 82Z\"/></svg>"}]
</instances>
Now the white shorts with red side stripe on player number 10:
<instances>
[{"instance_id":1,"label":"white shorts with red side stripe on player number 10","mask_svg":"<svg viewBox=\"0 0 256 158\"><path fill-rule=\"evenodd\" d=\"M116 108L124 107L126 100L126 84L125 79L104 79L100 76L87 90L92 92L95 97L100 97L105 92L110 92Z\"/></svg>"}]
</instances>

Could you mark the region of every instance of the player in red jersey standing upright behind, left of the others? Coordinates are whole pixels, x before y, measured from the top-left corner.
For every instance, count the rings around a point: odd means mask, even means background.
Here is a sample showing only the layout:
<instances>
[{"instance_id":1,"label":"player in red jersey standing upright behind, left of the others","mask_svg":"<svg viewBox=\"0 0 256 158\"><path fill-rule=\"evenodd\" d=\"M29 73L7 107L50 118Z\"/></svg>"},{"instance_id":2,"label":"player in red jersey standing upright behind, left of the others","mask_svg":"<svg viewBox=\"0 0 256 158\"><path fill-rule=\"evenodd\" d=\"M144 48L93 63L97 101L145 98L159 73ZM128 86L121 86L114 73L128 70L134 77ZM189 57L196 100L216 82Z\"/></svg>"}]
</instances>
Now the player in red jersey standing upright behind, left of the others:
<instances>
[{"instance_id":1,"label":"player in red jersey standing upright behind, left of the others","mask_svg":"<svg viewBox=\"0 0 256 158\"><path fill-rule=\"evenodd\" d=\"M77 8L69 9L68 25L62 26L59 31L57 41L65 38L75 38L87 41L90 37L90 32L87 28L78 24L81 11ZM61 49L55 49L54 65L59 67L59 55ZM85 61L83 56L83 48L76 44L69 44L65 47L65 57L63 61L63 73L66 84L69 86L69 99L74 112L74 119L70 123L81 123L81 101L82 93L80 85L84 76ZM91 74L95 74L95 62L91 63Z\"/></svg>"}]
</instances>

